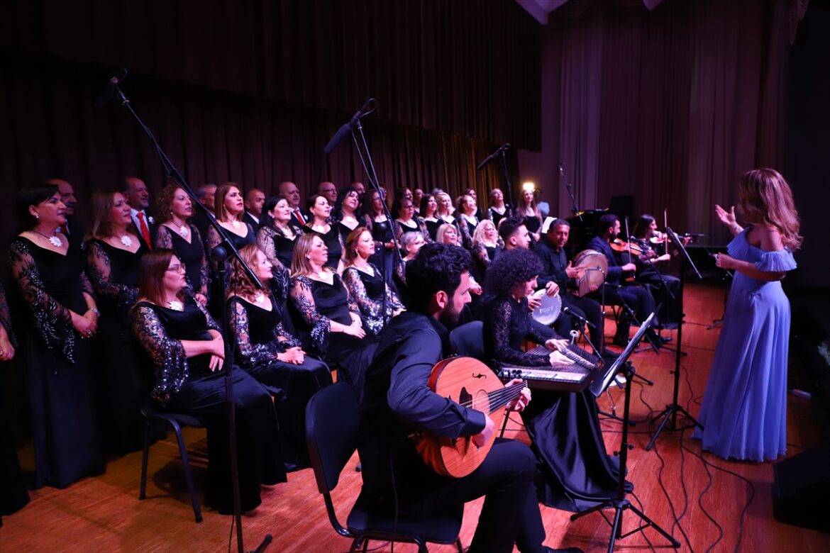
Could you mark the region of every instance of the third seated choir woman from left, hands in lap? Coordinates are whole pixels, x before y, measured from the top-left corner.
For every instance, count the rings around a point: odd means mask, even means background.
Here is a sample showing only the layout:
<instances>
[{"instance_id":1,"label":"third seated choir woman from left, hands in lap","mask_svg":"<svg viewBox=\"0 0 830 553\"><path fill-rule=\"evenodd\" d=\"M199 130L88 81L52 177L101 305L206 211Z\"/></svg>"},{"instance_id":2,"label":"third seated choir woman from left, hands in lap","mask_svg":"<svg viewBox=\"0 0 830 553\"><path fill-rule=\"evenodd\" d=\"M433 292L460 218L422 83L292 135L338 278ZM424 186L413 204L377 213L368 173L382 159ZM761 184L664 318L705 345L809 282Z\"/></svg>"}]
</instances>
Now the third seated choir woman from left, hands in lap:
<instances>
[{"instance_id":1,"label":"third seated choir woman from left, hands in lap","mask_svg":"<svg viewBox=\"0 0 830 553\"><path fill-rule=\"evenodd\" d=\"M319 235L300 236L291 264L291 314L305 350L315 352L363 394L366 367L378 343L367 336L354 298L340 275L325 267L328 251Z\"/></svg>"}]
</instances>

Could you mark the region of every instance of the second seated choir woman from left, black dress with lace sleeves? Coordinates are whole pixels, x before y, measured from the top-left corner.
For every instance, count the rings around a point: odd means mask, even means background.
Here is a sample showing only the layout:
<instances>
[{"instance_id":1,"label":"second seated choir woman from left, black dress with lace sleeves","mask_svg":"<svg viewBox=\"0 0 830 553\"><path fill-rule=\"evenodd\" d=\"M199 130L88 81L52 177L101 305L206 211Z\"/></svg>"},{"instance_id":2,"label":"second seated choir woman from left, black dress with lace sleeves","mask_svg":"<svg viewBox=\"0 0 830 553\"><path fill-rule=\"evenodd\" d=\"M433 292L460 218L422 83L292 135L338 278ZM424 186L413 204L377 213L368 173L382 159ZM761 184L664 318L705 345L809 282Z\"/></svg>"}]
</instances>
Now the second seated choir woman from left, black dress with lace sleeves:
<instances>
[{"instance_id":1,"label":"second seated choir woman from left, black dress with lace sleeves","mask_svg":"<svg viewBox=\"0 0 830 553\"><path fill-rule=\"evenodd\" d=\"M239 250L262 282L271 280L271 263L256 245ZM286 469L310 466L305 445L305 404L331 384L323 361L305 355L300 341L283 326L282 306L266 287L256 289L242 265L231 261L232 295L227 300L228 330L236 341L236 359L257 381L278 388L277 418Z\"/></svg>"}]
</instances>

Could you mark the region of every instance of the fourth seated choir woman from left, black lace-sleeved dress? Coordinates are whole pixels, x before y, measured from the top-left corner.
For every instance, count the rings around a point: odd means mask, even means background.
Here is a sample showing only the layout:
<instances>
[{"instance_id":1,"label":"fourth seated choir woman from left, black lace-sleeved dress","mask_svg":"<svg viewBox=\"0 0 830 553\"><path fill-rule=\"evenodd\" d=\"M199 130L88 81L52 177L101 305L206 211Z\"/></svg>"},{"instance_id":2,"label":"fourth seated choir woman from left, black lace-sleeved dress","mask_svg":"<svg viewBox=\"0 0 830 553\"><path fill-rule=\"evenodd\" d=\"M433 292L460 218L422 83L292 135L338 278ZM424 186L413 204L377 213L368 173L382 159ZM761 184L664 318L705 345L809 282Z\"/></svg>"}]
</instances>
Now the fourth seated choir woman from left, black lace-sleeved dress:
<instances>
[{"instance_id":1,"label":"fourth seated choir woman from left, black lace-sleeved dress","mask_svg":"<svg viewBox=\"0 0 830 553\"><path fill-rule=\"evenodd\" d=\"M408 200L405 200L408 201ZM369 261L374 254L374 240L366 229L355 229L346 240L346 269L343 282L360 309L360 318L375 336L389 319L403 311L398 294L383 282L378 268Z\"/></svg>"}]
</instances>

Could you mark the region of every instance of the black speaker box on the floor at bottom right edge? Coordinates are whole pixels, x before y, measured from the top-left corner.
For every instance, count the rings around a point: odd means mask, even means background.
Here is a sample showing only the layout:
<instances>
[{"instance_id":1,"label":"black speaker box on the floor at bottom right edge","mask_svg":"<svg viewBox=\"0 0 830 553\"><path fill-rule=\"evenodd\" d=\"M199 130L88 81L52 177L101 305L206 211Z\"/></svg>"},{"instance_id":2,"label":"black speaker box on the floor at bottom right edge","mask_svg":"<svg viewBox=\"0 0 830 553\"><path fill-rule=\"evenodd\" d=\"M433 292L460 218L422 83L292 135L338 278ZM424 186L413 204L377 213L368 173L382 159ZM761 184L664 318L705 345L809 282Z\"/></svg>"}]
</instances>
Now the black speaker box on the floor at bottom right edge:
<instances>
[{"instance_id":1,"label":"black speaker box on the floor at bottom right edge","mask_svg":"<svg viewBox=\"0 0 830 553\"><path fill-rule=\"evenodd\" d=\"M773 512L778 521L830 531L830 446L773 465Z\"/></svg>"}]
</instances>

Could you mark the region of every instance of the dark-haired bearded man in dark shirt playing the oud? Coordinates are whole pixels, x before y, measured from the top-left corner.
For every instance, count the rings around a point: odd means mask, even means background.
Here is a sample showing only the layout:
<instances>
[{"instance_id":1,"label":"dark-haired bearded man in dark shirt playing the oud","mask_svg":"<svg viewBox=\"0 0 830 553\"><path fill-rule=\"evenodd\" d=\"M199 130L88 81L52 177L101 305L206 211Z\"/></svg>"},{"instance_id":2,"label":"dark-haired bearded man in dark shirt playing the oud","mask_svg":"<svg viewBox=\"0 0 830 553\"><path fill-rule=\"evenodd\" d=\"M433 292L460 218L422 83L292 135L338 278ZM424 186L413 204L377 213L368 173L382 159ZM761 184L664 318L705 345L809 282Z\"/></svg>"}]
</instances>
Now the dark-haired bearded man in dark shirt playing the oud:
<instances>
[{"instance_id":1,"label":"dark-haired bearded man in dark shirt playing the oud","mask_svg":"<svg viewBox=\"0 0 830 553\"><path fill-rule=\"evenodd\" d=\"M361 500L399 517L422 517L484 496L468 551L553 551L542 546L544 527L533 485L536 460L513 440L497 440L485 460L463 478L435 473L417 454L410 436L427 430L485 444L495 432L491 418L437 395L428 386L432 366L442 360L447 327L470 302L471 257L453 245L427 244L407 264L407 311L393 318L366 372L360 402L364 486ZM528 390L508 407L522 410ZM578 551L578 550L566 550Z\"/></svg>"}]
</instances>

